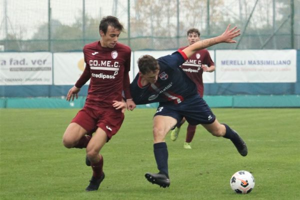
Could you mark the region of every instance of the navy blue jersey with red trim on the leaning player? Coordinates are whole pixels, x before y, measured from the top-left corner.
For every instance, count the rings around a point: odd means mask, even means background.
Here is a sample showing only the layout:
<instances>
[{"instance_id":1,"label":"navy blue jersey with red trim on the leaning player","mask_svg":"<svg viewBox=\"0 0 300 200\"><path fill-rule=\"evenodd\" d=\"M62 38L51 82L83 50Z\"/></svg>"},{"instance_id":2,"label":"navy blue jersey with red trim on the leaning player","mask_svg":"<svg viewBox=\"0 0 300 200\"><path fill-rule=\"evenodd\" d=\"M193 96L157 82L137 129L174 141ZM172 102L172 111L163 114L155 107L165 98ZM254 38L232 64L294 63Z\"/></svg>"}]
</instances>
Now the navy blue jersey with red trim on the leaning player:
<instances>
[{"instance_id":1,"label":"navy blue jersey with red trim on the leaning player","mask_svg":"<svg viewBox=\"0 0 300 200\"><path fill-rule=\"evenodd\" d=\"M138 85L139 74L130 83L131 96L135 104L153 102L180 103L186 97L197 94L193 81L179 67L186 59L184 52L175 51L171 55L159 57L157 81L143 87Z\"/></svg>"}]
</instances>

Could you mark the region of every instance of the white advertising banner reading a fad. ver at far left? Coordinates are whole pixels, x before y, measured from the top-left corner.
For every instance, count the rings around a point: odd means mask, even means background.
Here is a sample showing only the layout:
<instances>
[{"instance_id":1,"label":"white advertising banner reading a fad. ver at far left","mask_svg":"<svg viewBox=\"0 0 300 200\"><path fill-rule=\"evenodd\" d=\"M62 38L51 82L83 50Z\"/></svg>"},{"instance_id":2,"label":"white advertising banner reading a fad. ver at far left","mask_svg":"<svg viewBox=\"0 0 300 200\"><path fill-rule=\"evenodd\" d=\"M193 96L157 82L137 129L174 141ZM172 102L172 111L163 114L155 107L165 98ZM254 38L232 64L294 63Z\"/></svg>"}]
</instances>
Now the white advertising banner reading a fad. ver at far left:
<instances>
[{"instance_id":1,"label":"white advertising banner reading a fad. ver at far left","mask_svg":"<svg viewBox=\"0 0 300 200\"><path fill-rule=\"evenodd\" d=\"M0 85L37 84L52 84L52 53L0 53Z\"/></svg>"}]
</instances>

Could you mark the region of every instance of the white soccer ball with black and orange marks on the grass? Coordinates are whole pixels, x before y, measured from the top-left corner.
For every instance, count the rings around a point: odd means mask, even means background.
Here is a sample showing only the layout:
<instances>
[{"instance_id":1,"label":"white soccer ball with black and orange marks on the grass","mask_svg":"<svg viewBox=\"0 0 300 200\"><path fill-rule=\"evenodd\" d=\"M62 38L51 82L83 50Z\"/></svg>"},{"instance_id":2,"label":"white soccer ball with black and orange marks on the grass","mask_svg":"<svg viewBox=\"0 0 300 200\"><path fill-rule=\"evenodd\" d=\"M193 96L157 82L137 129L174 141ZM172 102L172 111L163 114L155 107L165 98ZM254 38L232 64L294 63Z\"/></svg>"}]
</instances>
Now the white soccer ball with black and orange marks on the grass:
<instances>
[{"instance_id":1,"label":"white soccer ball with black and orange marks on the grass","mask_svg":"<svg viewBox=\"0 0 300 200\"><path fill-rule=\"evenodd\" d=\"M236 193L249 193L254 187L253 175L248 171L237 171L230 178L231 189Z\"/></svg>"}]
</instances>

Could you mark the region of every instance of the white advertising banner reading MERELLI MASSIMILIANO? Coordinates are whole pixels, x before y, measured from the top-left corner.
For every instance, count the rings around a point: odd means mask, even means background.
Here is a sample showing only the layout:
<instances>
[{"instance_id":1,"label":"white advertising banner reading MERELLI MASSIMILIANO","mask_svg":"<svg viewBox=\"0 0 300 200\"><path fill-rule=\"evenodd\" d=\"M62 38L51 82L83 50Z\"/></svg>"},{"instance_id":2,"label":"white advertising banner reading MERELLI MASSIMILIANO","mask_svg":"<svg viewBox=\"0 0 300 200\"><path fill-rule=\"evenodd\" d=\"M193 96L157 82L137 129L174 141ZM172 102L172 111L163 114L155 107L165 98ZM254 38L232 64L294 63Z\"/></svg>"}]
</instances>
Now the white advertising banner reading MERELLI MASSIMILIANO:
<instances>
[{"instance_id":1,"label":"white advertising banner reading MERELLI MASSIMILIANO","mask_svg":"<svg viewBox=\"0 0 300 200\"><path fill-rule=\"evenodd\" d=\"M296 50L216 50L216 82L296 82Z\"/></svg>"}]
</instances>

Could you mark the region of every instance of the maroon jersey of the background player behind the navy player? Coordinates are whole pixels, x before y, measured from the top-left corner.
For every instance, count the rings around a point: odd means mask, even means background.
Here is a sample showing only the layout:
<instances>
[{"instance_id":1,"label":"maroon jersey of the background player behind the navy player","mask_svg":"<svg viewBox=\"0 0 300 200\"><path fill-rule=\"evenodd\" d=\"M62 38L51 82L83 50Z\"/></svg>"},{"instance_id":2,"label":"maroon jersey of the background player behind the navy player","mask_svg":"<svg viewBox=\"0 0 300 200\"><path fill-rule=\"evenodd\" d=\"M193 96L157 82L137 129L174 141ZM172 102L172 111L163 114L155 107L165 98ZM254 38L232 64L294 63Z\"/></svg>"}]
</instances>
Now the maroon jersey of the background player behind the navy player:
<instances>
[{"instance_id":1,"label":"maroon jersey of the background player behind the navy player","mask_svg":"<svg viewBox=\"0 0 300 200\"><path fill-rule=\"evenodd\" d=\"M179 49L184 49L187 46L180 47ZM211 60L208 50L200 49L192 54L180 67L186 73L186 75L197 85L197 91L201 97L203 97L203 79L201 69L202 64L207 64L207 66L214 65Z\"/></svg>"}]
</instances>

